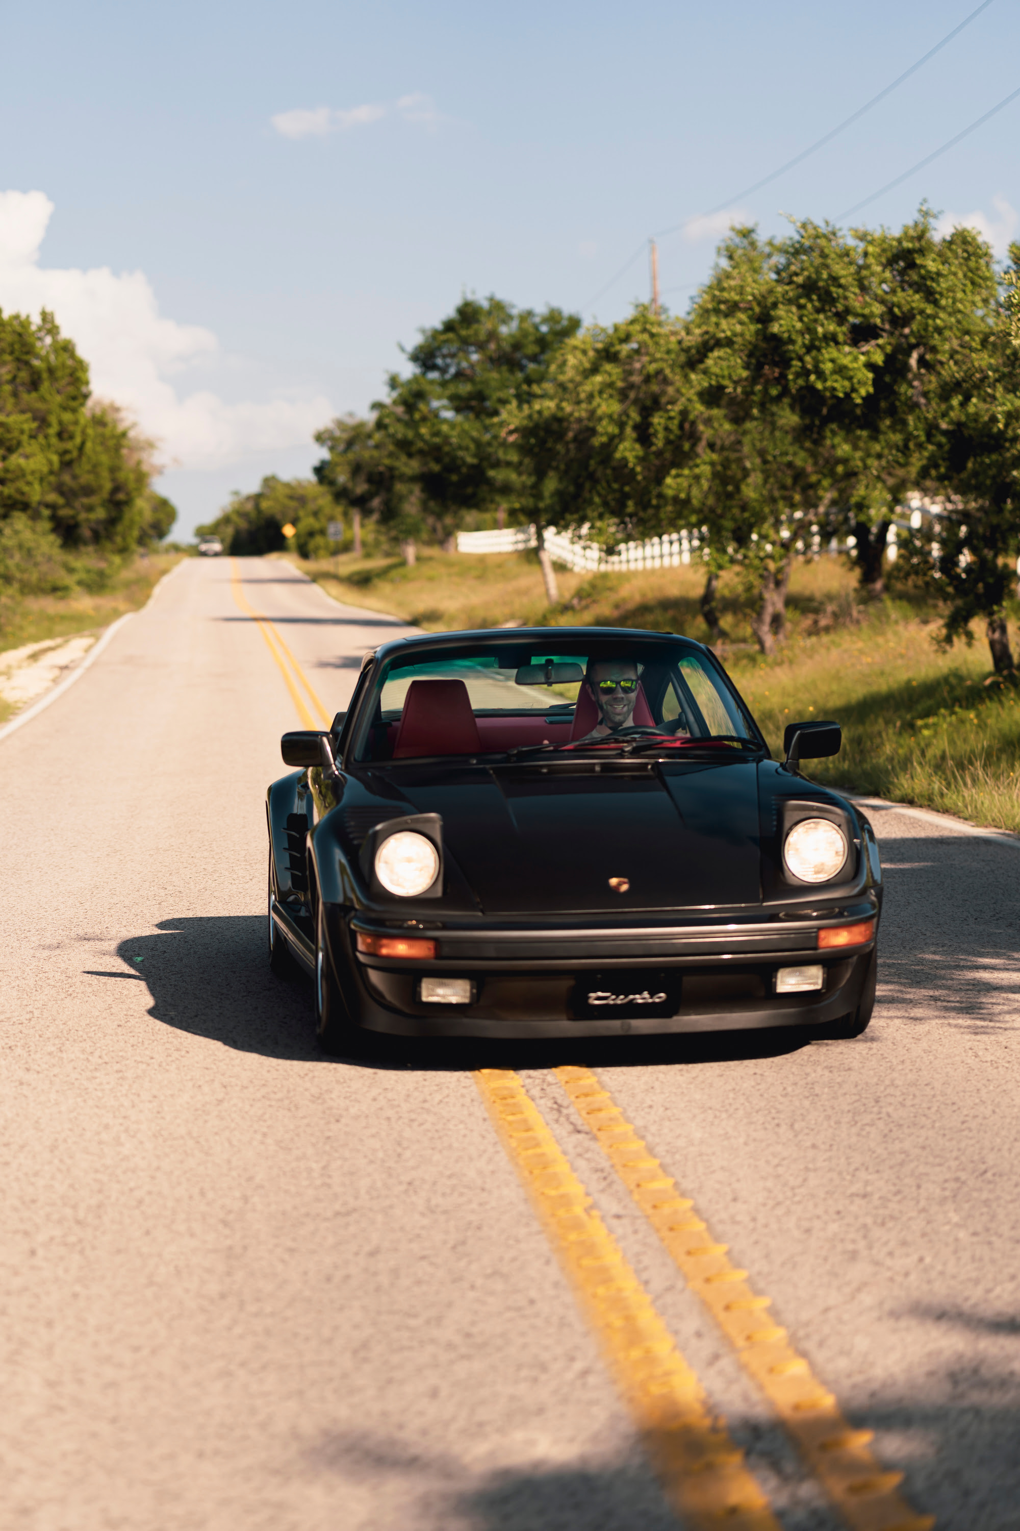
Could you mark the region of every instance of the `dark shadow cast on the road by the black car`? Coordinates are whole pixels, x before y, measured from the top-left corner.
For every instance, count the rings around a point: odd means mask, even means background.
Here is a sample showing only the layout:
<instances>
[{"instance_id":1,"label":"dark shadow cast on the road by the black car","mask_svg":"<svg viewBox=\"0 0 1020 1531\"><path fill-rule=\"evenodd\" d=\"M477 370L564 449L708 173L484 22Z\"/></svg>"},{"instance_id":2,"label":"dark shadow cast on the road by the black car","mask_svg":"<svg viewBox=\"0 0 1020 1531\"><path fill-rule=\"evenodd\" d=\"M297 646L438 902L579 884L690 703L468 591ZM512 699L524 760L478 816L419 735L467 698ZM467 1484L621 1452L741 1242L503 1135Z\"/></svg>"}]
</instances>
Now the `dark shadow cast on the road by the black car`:
<instances>
[{"instance_id":1,"label":"dark shadow cast on the road by the black car","mask_svg":"<svg viewBox=\"0 0 1020 1531\"><path fill-rule=\"evenodd\" d=\"M451 1070L699 1064L778 1058L807 1046L800 1030L717 1032L694 1036L567 1036L554 1041L460 1041L364 1032L346 1058L326 1058L315 1041L312 983L301 969L278 978L266 955L266 920L257 914L162 920L154 934L118 946L124 972L142 978L148 1014L194 1036L268 1058L321 1059L361 1069Z\"/></svg>"}]
</instances>

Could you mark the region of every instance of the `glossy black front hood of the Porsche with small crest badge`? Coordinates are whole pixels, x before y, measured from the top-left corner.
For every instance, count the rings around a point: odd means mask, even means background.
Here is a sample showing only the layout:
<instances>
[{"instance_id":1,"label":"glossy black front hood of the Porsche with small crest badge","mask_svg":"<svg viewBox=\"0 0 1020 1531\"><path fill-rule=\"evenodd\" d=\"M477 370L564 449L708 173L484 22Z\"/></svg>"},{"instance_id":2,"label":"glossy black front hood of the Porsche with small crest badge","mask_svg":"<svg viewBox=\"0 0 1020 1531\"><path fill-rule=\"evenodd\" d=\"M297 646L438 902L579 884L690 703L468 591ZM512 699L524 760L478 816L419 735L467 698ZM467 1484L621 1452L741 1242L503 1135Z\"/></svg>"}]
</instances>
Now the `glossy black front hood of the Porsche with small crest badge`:
<instances>
[{"instance_id":1,"label":"glossy black front hood of the Porsche with small crest badge","mask_svg":"<svg viewBox=\"0 0 1020 1531\"><path fill-rule=\"evenodd\" d=\"M512 767L402 781L489 914L661 911L762 897L754 761ZM625 893L610 879L627 879Z\"/></svg>"}]
</instances>

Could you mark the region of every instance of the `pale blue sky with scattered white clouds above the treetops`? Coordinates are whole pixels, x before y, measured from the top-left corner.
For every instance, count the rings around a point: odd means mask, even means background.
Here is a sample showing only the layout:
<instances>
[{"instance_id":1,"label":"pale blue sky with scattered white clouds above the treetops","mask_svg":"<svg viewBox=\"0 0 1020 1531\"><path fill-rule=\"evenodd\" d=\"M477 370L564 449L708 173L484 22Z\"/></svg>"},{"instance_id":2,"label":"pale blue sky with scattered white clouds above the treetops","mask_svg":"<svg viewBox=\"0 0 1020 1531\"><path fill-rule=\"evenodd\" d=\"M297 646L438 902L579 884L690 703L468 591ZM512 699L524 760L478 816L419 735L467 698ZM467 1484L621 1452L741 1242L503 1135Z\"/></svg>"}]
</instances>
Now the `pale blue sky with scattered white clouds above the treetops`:
<instances>
[{"instance_id":1,"label":"pale blue sky with scattered white clouds above the treetops","mask_svg":"<svg viewBox=\"0 0 1020 1531\"><path fill-rule=\"evenodd\" d=\"M231 488L306 473L312 430L379 397L462 292L625 314L644 256L590 300L645 236L798 153L974 3L6 6L0 306L57 308L176 459L188 534ZM992 0L742 216L835 217L1017 89L1017 0ZM927 197L1003 248L1018 135L1020 100L855 222ZM681 312L717 228L661 242Z\"/></svg>"}]
</instances>

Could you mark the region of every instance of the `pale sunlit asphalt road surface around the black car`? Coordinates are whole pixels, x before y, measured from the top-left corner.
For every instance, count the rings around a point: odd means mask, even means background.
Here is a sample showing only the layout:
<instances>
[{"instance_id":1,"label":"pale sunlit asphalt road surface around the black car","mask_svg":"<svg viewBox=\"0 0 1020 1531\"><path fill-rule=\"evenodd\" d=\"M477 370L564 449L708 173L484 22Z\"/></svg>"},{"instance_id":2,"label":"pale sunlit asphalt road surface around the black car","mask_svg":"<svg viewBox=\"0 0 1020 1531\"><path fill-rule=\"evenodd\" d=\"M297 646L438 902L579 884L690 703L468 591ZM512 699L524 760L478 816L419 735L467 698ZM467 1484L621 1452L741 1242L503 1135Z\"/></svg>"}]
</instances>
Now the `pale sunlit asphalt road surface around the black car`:
<instances>
[{"instance_id":1,"label":"pale sunlit asphalt road surface around the black car","mask_svg":"<svg viewBox=\"0 0 1020 1531\"><path fill-rule=\"evenodd\" d=\"M243 560L324 707L402 629ZM876 810L866 1036L315 1053L265 958L295 703L191 560L0 743L3 1531L665 1531L473 1070L517 1069L786 1531L835 1519L552 1072L587 1064L884 1468L1020 1526L1020 848Z\"/></svg>"}]
</instances>

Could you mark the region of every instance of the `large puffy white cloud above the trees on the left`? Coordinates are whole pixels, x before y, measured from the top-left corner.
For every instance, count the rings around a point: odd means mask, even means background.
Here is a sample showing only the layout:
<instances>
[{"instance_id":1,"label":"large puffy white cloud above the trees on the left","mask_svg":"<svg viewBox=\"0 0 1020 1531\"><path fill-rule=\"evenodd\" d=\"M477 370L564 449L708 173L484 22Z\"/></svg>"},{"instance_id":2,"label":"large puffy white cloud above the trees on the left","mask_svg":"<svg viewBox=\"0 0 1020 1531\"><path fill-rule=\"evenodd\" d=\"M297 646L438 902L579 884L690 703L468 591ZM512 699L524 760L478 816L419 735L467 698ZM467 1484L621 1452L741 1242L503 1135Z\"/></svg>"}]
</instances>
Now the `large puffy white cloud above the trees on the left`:
<instances>
[{"instance_id":1,"label":"large puffy white cloud above the trees on the left","mask_svg":"<svg viewBox=\"0 0 1020 1531\"><path fill-rule=\"evenodd\" d=\"M93 393L122 404L164 458L188 468L216 467L304 442L329 419L332 409L321 397L228 404L200 390L179 398L168 378L219 355L216 335L164 318L142 271L41 266L52 211L43 191L0 191L0 309L32 315L52 309L89 363Z\"/></svg>"}]
</instances>

